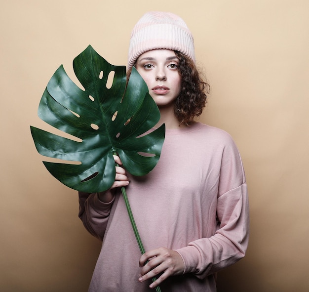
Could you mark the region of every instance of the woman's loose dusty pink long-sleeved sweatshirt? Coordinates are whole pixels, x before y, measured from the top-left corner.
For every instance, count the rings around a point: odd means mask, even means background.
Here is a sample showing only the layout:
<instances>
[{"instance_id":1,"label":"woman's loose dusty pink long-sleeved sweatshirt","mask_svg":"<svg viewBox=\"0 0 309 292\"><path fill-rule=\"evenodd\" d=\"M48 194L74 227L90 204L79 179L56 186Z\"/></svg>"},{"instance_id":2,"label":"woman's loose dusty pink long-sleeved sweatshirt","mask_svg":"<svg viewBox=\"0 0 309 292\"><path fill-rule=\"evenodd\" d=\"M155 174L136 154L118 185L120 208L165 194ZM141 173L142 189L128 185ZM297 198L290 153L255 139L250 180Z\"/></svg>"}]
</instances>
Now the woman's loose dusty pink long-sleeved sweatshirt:
<instances>
[{"instance_id":1,"label":"woman's loose dusty pink long-sleeved sweatshirt","mask_svg":"<svg viewBox=\"0 0 309 292\"><path fill-rule=\"evenodd\" d=\"M127 195L145 250L179 252L181 276L162 292L215 292L216 272L242 258L248 245L249 208L238 150L225 131L201 123L166 130L160 160L143 177L130 177ZM102 203L79 193L79 217L103 240L89 292L146 292L141 256L122 195Z\"/></svg>"}]
</instances>

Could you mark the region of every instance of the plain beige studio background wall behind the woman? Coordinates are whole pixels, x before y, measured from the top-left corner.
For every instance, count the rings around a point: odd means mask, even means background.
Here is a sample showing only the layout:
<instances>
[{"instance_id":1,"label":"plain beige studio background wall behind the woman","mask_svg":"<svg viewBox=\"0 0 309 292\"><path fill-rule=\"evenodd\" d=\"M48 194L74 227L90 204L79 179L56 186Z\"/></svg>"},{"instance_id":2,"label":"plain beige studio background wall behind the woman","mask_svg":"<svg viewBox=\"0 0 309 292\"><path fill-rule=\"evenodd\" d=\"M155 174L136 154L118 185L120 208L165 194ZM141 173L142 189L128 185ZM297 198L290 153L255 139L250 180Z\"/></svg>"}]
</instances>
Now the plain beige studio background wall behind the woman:
<instances>
[{"instance_id":1,"label":"plain beige studio background wall behind the woman","mask_svg":"<svg viewBox=\"0 0 309 292\"><path fill-rule=\"evenodd\" d=\"M249 249L220 273L218 291L308 291L307 0L1 0L0 290L87 290L100 242L77 217L77 193L41 163L30 125L49 129L37 108L60 64L75 80L72 61L91 44L125 65L149 10L192 30L211 84L201 121L232 134L246 169Z\"/></svg>"}]
</instances>

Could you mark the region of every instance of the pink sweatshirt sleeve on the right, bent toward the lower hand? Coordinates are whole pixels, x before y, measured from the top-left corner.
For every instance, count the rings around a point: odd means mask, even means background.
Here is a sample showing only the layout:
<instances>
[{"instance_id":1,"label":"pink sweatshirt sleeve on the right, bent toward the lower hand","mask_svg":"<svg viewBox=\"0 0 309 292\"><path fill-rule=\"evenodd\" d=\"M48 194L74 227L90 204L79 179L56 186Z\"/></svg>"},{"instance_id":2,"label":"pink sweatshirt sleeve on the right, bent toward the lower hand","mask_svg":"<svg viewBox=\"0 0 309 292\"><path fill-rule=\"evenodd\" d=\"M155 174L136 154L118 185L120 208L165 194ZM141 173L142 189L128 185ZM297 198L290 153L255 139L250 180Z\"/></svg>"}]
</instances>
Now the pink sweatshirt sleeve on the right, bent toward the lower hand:
<instances>
[{"instance_id":1,"label":"pink sweatshirt sleeve on the right, bent toward the lower hand","mask_svg":"<svg viewBox=\"0 0 309 292\"><path fill-rule=\"evenodd\" d=\"M218 227L209 238L176 250L185 263L184 273L204 278L245 255L249 240L249 204L242 162L233 141L222 154L216 214Z\"/></svg>"}]
</instances>

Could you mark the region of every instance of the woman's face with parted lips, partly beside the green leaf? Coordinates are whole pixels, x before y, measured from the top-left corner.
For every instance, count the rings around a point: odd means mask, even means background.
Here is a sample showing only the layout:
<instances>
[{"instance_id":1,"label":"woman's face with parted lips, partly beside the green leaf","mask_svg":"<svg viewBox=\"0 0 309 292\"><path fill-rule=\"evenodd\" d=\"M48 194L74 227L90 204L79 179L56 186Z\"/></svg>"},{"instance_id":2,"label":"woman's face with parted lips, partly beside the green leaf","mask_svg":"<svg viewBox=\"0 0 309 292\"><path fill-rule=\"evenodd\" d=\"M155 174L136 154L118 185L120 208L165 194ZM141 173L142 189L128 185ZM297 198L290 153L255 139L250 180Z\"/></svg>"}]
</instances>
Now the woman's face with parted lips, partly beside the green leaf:
<instances>
[{"instance_id":1,"label":"woman's face with parted lips, partly beside the green leaf","mask_svg":"<svg viewBox=\"0 0 309 292\"><path fill-rule=\"evenodd\" d=\"M136 69L158 107L174 106L181 89L178 64L175 52L168 49L147 51L136 61Z\"/></svg>"}]
</instances>

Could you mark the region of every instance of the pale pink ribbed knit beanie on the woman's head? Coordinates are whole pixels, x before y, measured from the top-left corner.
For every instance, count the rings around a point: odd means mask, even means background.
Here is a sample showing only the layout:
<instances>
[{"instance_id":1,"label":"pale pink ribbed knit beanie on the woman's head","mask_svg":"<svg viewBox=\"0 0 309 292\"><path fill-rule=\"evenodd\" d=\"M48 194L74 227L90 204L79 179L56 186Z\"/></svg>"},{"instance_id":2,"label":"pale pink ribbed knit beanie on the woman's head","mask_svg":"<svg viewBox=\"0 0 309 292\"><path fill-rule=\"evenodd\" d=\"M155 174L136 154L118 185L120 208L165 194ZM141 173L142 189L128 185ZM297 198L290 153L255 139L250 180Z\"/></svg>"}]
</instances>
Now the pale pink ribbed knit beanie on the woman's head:
<instances>
[{"instance_id":1,"label":"pale pink ribbed knit beanie on the woman's head","mask_svg":"<svg viewBox=\"0 0 309 292\"><path fill-rule=\"evenodd\" d=\"M176 50L195 62L192 34L186 23L170 12L148 12L136 23L131 34L128 69L141 54L153 49Z\"/></svg>"}]
</instances>

